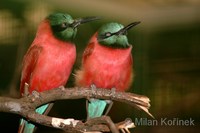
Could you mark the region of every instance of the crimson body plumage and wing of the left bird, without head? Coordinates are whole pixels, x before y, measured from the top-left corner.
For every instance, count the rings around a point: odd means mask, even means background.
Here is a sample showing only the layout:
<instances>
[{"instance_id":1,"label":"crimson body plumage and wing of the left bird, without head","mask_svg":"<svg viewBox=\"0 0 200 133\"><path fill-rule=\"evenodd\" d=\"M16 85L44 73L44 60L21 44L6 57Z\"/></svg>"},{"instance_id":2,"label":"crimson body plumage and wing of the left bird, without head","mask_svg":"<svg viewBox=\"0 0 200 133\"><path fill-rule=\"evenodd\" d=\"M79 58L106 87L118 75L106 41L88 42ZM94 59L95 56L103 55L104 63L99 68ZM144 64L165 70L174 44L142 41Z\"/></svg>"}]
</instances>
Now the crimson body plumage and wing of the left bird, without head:
<instances>
[{"instance_id":1,"label":"crimson body plumage and wing of the left bird, without head","mask_svg":"<svg viewBox=\"0 0 200 133\"><path fill-rule=\"evenodd\" d=\"M24 92L24 83L29 84L29 92L65 85L75 59L75 45L55 38L49 21L43 21L24 56L20 92Z\"/></svg>"}]
</instances>

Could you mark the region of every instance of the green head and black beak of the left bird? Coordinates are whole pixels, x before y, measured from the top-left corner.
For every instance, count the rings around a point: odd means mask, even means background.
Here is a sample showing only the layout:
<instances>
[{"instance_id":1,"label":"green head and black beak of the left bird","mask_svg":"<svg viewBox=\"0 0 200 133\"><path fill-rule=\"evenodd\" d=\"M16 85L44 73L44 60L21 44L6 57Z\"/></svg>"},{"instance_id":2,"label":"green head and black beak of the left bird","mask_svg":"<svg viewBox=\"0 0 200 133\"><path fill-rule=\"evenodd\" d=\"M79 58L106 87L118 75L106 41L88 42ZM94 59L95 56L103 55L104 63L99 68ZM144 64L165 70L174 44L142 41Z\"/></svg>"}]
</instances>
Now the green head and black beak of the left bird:
<instances>
[{"instance_id":1,"label":"green head and black beak of the left bird","mask_svg":"<svg viewBox=\"0 0 200 133\"><path fill-rule=\"evenodd\" d=\"M98 20L99 17L73 19L69 14L54 13L47 17L55 37L63 41L72 41L80 24Z\"/></svg>"}]
</instances>

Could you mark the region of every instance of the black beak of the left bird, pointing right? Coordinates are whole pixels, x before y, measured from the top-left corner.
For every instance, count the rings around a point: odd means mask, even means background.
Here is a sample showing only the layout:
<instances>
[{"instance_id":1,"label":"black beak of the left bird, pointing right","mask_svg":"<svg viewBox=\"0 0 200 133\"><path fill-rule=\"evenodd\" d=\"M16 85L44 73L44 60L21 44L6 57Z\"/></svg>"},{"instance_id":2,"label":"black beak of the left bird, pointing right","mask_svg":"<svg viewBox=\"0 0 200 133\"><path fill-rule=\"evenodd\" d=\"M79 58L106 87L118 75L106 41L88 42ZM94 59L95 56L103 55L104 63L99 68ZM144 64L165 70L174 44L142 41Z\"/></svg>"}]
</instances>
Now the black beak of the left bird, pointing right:
<instances>
[{"instance_id":1,"label":"black beak of the left bird, pointing right","mask_svg":"<svg viewBox=\"0 0 200 133\"><path fill-rule=\"evenodd\" d=\"M74 22L70 25L73 28L78 27L81 24L87 23L87 22L91 22L91 21L95 21L95 20L99 20L101 19L100 17L85 17L85 18L79 18L79 19L75 19Z\"/></svg>"}]
</instances>

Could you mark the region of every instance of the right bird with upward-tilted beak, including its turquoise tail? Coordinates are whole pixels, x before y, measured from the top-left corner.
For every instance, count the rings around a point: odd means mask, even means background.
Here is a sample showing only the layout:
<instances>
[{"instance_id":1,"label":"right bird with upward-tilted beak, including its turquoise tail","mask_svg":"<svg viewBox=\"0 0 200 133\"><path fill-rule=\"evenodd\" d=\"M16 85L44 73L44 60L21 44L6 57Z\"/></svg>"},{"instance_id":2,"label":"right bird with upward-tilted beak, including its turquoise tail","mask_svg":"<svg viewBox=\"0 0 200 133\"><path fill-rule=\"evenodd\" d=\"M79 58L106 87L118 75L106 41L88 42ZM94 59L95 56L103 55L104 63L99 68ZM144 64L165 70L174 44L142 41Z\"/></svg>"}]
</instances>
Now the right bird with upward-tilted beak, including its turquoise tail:
<instances>
[{"instance_id":1,"label":"right bird with upward-tilted beak, including its turquoise tail","mask_svg":"<svg viewBox=\"0 0 200 133\"><path fill-rule=\"evenodd\" d=\"M134 22L126 27L120 23L103 25L92 36L83 53L82 66L75 74L75 84L81 87L92 85L92 88L126 91L133 79L132 45L128 42L127 30L139 23ZM107 114L112 101L90 99L86 106L87 117L95 118L103 113Z\"/></svg>"}]
</instances>

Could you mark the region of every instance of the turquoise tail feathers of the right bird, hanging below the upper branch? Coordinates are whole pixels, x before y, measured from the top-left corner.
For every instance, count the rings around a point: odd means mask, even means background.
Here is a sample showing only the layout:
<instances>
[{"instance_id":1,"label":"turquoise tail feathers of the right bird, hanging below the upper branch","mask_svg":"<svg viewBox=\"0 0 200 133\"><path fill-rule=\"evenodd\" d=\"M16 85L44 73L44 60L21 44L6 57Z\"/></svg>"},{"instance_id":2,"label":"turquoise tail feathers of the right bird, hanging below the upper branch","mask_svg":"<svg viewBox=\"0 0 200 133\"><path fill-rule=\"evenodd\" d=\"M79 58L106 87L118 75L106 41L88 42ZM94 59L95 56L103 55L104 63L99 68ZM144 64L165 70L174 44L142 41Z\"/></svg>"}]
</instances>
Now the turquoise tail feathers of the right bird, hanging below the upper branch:
<instances>
[{"instance_id":1,"label":"turquoise tail feathers of the right bird, hanging below the upper branch","mask_svg":"<svg viewBox=\"0 0 200 133\"><path fill-rule=\"evenodd\" d=\"M91 99L87 107L88 118L100 117L106 108L106 100Z\"/></svg>"}]
</instances>

